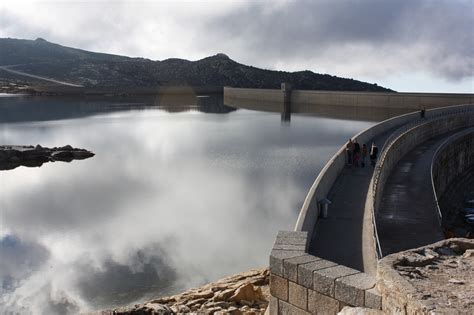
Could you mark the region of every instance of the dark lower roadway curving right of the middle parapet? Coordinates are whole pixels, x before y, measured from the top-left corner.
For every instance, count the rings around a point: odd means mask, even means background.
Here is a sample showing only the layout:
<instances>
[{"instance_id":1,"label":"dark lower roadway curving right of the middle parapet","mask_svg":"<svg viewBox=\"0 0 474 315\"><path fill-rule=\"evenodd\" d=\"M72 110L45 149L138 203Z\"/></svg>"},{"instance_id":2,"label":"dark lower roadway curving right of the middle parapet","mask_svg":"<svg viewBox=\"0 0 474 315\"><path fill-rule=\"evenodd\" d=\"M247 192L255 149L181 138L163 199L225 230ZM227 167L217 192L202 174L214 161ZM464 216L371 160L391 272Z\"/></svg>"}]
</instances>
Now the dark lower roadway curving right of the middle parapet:
<instances>
[{"instance_id":1,"label":"dark lower roadway curving right of the middle parapet","mask_svg":"<svg viewBox=\"0 0 474 315\"><path fill-rule=\"evenodd\" d=\"M390 174L375 215L383 256L444 239L433 199L431 160L453 133L419 145Z\"/></svg>"}]
</instances>

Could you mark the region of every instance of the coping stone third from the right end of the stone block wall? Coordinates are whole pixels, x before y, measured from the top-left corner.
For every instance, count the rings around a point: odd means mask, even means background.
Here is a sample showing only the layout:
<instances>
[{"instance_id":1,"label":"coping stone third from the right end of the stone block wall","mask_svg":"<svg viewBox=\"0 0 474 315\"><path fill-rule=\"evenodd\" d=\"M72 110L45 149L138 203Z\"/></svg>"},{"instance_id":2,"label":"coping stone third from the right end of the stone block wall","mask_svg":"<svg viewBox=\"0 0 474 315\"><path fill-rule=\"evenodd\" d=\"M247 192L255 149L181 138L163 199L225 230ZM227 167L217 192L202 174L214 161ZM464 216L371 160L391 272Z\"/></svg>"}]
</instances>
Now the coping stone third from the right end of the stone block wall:
<instances>
[{"instance_id":1,"label":"coping stone third from the right end of the stone block wall","mask_svg":"<svg viewBox=\"0 0 474 315\"><path fill-rule=\"evenodd\" d=\"M317 270L313 274L313 289L324 295L334 297L336 279L357 273L360 273L360 271L343 265Z\"/></svg>"}]
</instances>

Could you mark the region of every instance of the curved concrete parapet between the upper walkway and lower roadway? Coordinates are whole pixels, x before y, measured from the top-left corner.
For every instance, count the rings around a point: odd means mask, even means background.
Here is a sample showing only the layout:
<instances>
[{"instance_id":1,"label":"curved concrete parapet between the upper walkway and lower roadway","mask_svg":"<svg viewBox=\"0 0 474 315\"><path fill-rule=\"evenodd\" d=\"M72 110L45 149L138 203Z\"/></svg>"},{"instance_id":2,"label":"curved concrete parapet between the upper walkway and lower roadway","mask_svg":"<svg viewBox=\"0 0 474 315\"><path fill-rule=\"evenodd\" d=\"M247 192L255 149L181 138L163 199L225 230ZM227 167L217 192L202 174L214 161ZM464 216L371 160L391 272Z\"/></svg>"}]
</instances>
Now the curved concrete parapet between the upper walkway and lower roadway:
<instances>
[{"instance_id":1,"label":"curved concrete parapet between the upper walkway and lower roadway","mask_svg":"<svg viewBox=\"0 0 474 315\"><path fill-rule=\"evenodd\" d=\"M446 116L452 116L452 115L459 115L459 114L465 114L465 113L470 113L474 112L474 105L473 104L466 104L466 105L456 105L456 106L449 106L449 107L442 107L442 108L437 108L437 109L432 109L426 112L425 118L417 119L415 121L411 121L397 130L395 130L385 141L385 144L380 151L379 154L379 159L377 160L377 163L375 165L374 169L374 174L372 176L372 221L373 221L373 227L374 227L374 242L375 242L375 247L377 249L377 256L378 259L382 258L382 248L380 245L380 240L378 237L377 233L377 225L376 225L376 219L375 219L375 213L378 210L379 203L380 203L380 198L383 193L383 185L380 185L380 175L382 173L382 169L385 166L385 162L387 159L388 152L392 148L392 146L407 132L410 130L426 124L428 122L432 122L435 120L441 120L443 118L446 118ZM439 209L439 206L437 206L438 210L438 219L441 224L442 220L442 214Z\"/></svg>"}]
</instances>

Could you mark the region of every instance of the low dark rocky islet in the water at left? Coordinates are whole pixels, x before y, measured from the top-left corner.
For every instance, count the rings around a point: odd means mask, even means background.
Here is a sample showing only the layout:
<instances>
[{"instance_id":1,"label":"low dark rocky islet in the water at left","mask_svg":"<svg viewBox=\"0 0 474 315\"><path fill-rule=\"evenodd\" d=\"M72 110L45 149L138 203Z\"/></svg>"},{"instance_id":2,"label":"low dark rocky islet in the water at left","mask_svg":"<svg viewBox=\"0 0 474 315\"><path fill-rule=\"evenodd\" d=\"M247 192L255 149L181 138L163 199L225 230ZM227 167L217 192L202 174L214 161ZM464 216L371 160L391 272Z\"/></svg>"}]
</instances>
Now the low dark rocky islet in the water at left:
<instances>
[{"instance_id":1,"label":"low dark rocky islet in the water at left","mask_svg":"<svg viewBox=\"0 0 474 315\"><path fill-rule=\"evenodd\" d=\"M70 162L94 156L85 149L64 147L45 148L40 146L0 146L0 170L11 170L19 166L38 167L46 162Z\"/></svg>"}]
</instances>

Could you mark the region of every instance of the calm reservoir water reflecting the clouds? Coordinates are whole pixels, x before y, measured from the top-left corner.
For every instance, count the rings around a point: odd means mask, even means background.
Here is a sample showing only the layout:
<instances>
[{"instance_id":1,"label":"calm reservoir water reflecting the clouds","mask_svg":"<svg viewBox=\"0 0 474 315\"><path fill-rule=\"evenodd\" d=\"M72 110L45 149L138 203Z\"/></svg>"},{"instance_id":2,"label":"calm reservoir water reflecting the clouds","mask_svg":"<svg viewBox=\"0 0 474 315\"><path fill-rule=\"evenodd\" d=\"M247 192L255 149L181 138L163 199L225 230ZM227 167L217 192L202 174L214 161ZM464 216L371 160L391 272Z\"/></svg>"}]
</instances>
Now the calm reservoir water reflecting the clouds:
<instances>
[{"instance_id":1,"label":"calm reservoir water reflecting the clouds","mask_svg":"<svg viewBox=\"0 0 474 315\"><path fill-rule=\"evenodd\" d=\"M373 124L169 102L0 99L0 144L96 153L0 172L0 309L95 310L265 266L325 161Z\"/></svg>"}]
</instances>

